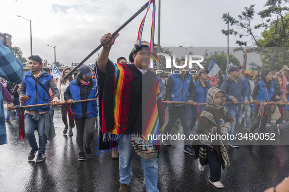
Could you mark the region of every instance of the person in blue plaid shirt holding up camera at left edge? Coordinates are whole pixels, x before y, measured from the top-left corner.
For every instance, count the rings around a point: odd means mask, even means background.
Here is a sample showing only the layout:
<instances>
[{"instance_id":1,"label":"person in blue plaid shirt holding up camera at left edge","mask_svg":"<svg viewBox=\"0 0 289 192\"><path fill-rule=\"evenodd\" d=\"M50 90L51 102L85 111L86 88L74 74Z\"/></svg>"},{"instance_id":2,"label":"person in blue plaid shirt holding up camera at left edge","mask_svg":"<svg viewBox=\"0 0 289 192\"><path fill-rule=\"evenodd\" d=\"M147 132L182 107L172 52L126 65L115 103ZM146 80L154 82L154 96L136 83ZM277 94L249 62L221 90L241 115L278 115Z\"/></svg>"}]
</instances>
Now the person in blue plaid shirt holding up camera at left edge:
<instances>
[{"instance_id":1,"label":"person in blue plaid shirt holding up camera at left edge","mask_svg":"<svg viewBox=\"0 0 289 192\"><path fill-rule=\"evenodd\" d=\"M9 34L0 33L0 77L7 79L11 83L21 83L24 79L22 62L15 57L11 51L11 38ZM2 91L0 89L0 95ZM8 110L11 110L9 107ZM3 100L0 97L0 145L7 143L5 115Z\"/></svg>"}]
</instances>

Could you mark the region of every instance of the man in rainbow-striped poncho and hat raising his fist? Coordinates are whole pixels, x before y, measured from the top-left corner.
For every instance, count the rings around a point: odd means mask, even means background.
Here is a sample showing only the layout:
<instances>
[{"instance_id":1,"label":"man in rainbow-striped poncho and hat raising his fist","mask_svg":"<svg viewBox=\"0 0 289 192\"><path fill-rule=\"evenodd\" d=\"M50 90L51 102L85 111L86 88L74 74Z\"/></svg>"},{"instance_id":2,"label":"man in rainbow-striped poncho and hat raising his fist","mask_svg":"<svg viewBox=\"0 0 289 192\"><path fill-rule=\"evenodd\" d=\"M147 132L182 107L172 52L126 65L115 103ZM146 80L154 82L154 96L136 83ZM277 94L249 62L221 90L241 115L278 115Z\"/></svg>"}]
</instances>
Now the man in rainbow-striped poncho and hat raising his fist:
<instances>
[{"instance_id":1,"label":"man in rainbow-striped poncho and hat raising his fist","mask_svg":"<svg viewBox=\"0 0 289 192\"><path fill-rule=\"evenodd\" d=\"M99 85L99 149L119 148L120 192L129 192L133 154L141 156L147 192L157 189L159 128L163 125L161 96L156 74L148 70L149 42L134 45L129 59L132 64L109 60L115 38L105 34L103 49L95 71ZM149 136L151 135L151 136ZM154 139L155 138L155 139Z\"/></svg>"}]
</instances>

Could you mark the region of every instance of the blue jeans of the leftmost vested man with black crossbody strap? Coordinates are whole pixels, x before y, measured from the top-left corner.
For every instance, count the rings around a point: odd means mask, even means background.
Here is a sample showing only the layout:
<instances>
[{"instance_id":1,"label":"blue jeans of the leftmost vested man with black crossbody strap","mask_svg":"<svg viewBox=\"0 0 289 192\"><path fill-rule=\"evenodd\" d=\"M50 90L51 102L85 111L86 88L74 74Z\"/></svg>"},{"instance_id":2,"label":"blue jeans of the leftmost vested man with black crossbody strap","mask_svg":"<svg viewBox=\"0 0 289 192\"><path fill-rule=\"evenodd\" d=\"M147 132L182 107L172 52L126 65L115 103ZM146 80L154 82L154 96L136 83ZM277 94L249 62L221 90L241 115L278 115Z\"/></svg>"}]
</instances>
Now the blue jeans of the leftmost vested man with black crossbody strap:
<instances>
[{"instance_id":1,"label":"blue jeans of the leftmost vested man with black crossbody strap","mask_svg":"<svg viewBox=\"0 0 289 192\"><path fill-rule=\"evenodd\" d=\"M44 131L45 131L44 114L40 115L39 121L35 121L34 119L32 119L32 117L33 115L30 115L30 114L25 114L25 117L24 117L26 137L27 137L30 147L32 149L36 149L37 142L35 139L34 131L35 131L35 127L37 127L38 137L39 137L38 153L44 154L46 150L46 143L47 143L47 136L44 134Z\"/></svg>"}]
</instances>

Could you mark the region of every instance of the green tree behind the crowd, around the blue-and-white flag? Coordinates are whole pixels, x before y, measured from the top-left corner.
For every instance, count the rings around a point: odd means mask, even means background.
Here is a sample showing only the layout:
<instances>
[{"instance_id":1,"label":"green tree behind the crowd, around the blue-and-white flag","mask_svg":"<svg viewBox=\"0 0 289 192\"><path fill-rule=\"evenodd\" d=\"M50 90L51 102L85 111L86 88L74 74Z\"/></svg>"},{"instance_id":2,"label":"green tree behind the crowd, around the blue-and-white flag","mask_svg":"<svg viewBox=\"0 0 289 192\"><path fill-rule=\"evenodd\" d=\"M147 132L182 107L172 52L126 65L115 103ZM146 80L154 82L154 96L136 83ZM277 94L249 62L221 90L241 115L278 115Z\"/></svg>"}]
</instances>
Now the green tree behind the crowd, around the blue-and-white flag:
<instances>
[{"instance_id":1,"label":"green tree behind the crowd, around the blue-and-white flag","mask_svg":"<svg viewBox=\"0 0 289 192\"><path fill-rule=\"evenodd\" d=\"M227 70L227 54L225 54L224 51L215 51L214 53L210 52L209 54L207 53L206 57L204 57L205 64L202 64L204 68L209 68L211 59L217 63L222 73L225 74ZM234 65L241 66L240 61L233 54L229 54L229 59Z\"/></svg>"}]
</instances>

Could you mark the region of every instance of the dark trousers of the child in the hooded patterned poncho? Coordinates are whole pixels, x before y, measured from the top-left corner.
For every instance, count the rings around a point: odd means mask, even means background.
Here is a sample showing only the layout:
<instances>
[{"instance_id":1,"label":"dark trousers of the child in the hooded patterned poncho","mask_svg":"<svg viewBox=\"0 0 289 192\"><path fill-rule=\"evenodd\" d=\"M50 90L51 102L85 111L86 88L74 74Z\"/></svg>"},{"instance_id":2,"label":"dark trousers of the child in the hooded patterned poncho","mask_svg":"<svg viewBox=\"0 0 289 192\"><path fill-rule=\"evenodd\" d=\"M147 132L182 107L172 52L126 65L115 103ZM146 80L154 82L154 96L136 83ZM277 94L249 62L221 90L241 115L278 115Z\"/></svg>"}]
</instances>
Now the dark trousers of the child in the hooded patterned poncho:
<instances>
[{"instance_id":1,"label":"dark trousers of the child in the hooded patterned poncho","mask_svg":"<svg viewBox=\"0 0 289 192\"><path fill-rule=\"evenodd\" d=\"M207 149L207 154L208 154L208 160L207 161L201 161L200 160L200 164L201 165L207 165L209 164L209 168L210 168L210 181L211 182L217 182L220 181L221 179L221 163L219 161L219 156L217 151L209 146L202 146L203 148ZM212 150L212 151L211 151Z\"/></svg>"}]
</instances>

